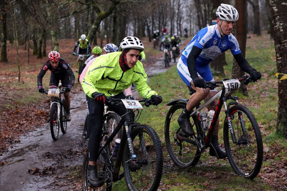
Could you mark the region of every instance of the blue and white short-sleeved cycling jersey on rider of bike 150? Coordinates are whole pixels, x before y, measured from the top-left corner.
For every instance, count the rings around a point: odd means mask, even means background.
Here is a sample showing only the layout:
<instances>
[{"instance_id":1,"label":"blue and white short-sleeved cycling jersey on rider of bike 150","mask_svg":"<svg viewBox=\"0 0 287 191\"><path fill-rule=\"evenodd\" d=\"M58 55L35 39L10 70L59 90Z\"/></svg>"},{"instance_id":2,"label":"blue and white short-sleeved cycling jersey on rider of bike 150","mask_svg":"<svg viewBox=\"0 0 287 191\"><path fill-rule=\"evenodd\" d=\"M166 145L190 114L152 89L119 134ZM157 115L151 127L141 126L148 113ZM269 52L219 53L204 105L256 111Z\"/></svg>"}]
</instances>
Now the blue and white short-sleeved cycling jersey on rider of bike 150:
<instances>
[{"instance_id":1,"label":"blue and white short-sleeved cycling jersey on rider of bike 150","mask_svg":"<svg viewBox=\"0 0 287 191\"><path fill-rule=\"evenodd\" d=\"M209 64L222 52L230 49L233 55L241 53L238 41L230 34L221 38L216 25L211 25L201 29L181 52L181 60L186 65L187 57L192 46L203 49L196 59L196 66Z\"/></svg>"}]
</instances>

